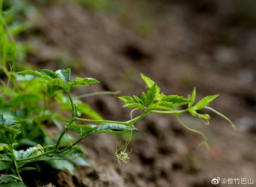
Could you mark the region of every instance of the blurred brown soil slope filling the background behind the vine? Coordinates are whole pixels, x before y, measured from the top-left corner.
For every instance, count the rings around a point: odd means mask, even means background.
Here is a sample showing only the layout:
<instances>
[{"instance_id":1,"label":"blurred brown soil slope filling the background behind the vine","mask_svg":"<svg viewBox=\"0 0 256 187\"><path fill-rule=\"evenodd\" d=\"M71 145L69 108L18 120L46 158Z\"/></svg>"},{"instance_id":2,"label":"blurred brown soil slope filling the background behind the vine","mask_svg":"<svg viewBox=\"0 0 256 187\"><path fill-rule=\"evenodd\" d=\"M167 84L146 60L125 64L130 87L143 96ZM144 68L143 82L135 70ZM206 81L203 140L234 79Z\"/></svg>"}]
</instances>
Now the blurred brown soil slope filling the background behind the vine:
<instances>
[{"instance_id":1,"label":"blurred brown soil slope filling the background behind the vine","mask_svg":"<svg viewBox=\"0 0 256 187\"><path fill-rule=\"evenodd\" d=\"M234 132L210 111L203 111L212 117L208 126L181 115L184 123L206 134L207 153L197 147L201 137L184 129L175 116L150 114L135 124L139 131L129 145L130 162L120 166L114 156L116 143L124 143L120 136L93 135L82 141L92 167L77 167L75 176L41 176L35 179L41 181L38 186L208 187L215 177L254 178L256 183L254 0L31 2L39 14L17 38L37 49L26 62L37 68L71 68L72 78L101 82L73 95L117 90L140 95L145 91L141 72L166 94L187 97L194 86L196 101L220 94L211 107L238 128ZM85 101L105 119L129 119L130 109L122 108L116 97Z\"/></svg>"}]
</instances>

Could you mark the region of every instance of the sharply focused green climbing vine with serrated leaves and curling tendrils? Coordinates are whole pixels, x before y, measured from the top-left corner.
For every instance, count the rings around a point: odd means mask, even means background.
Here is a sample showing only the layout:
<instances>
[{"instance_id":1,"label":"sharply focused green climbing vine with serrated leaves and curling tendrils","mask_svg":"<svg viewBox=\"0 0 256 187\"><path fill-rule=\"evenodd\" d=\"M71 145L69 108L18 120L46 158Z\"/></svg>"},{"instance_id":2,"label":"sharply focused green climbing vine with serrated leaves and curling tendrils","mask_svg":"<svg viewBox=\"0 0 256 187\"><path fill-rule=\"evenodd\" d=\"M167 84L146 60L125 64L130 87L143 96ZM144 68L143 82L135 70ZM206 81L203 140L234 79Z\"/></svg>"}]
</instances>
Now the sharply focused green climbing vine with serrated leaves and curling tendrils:
<instances>
[{"instance_id":1,"label":"sharply focused green climbing vine with serrated leaves and curling tendrils","mask_svg":"<svg viewBox=\"0 0 256 187\"><path fill-rule=\"evenodd\" d=\"M210 116L208 114L200 114L197 111L206 108L209 109L226 120L232 125L234 129L235 125L230 121L229 118L219 113L213 108L208 107L209 103L212 102L219 95L212 95L202 98L199 102L194 104L196 98L196 88L194 88L192 95L188 98L178 96L178 95L165 95L161 92L160 88L157 86L156 82L151 80L149 77L140 74L142 79L146 83L148 88L147 92L142 92L139 96L122 96L118 97L125 102L123 107L134 108L134 110L140 110L142 114L133 118L131 112L131 119L125 122L122 121L110 121L110 120L97 120L97 119L84 119L79 118L77 115L79 105L73 102L73 97L71 96L71 91L78 86L89 86L90 84L98 84L99 81L93 78L75 78L74 81L70 80L70 69L60 69L57 71L51 71L48 69L43 70L26 70L17 72L18 74L33 75L41 78L40 82L59 86L68 95L70 106L72 109L72 116L69 122L64 123L64 129L60 133L58 140L53 145L41 146L40 144L30 147L27 150L15 150L15 146L18 141L16 141L17 136L22 133L21 125L18 121L14 119L4 118L0 115L0 134L4 142L0 144L0 162L2 166L7 169L5 175L0 177L0 184L2 186L25 186L22 182L20 172L22 170L32 170L33 167L25 167L26 164L38 161L49 161L49 160L70 160L76 159L79 156L85 156L84 152L76 146L82 139L88 137L89 135L96 133L126 133L126 143L121 146L121 148L116 148L116 157L118 162L128 162L128 153L126 153L127 146L132 138L133 130L138 130L134 127L134 124L138 122L143 117L150 113L160 113L160 114L175 114L177 120L188 130L198 133L202 136L203 141L200 145L205 145L207 149L209 148L205 135L195 129L186 126L178 117L181 113L190 113L194 117L202 119L204 123L209 124ZM28 85L29 86L29 85ZM186 109L177 110L176 107L188 105ZM78 122L96 122L95 124L78 124ZM80 135L80 138L68 146L60 146L60 142L68 130L73 130ZM128 134L130 132L130 135ZM66 155L63 156L63 155ZM18 182L21 181L21 182ZM22 186L23 185L23 186Z\"/></svg>"}]
</instances>

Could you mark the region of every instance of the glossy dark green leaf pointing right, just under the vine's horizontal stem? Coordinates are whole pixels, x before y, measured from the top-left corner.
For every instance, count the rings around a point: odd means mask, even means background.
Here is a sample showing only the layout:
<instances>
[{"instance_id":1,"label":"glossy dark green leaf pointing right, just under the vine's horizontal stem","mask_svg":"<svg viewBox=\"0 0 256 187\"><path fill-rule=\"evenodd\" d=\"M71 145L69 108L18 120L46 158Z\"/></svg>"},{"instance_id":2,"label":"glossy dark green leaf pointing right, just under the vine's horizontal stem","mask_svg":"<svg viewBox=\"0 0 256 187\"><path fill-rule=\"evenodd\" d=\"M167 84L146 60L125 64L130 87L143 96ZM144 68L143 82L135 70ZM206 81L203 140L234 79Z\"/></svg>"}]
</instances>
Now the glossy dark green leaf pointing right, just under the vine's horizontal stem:
<instances>
[{"instance_id":1,"label":"glossy dark green leaf pointing right, just under the vine's horizontal stem","mask_svg":"<svg viewBox=\"0 0 256 187\"><path fill-rule=\"evenodd\" d=\"M127 128L128 130L138 130L137 128L117 123L101 123L97 128L88 132L86 136L95 133L123 133L126 132Z\"/></svg>"}]
</instances>

